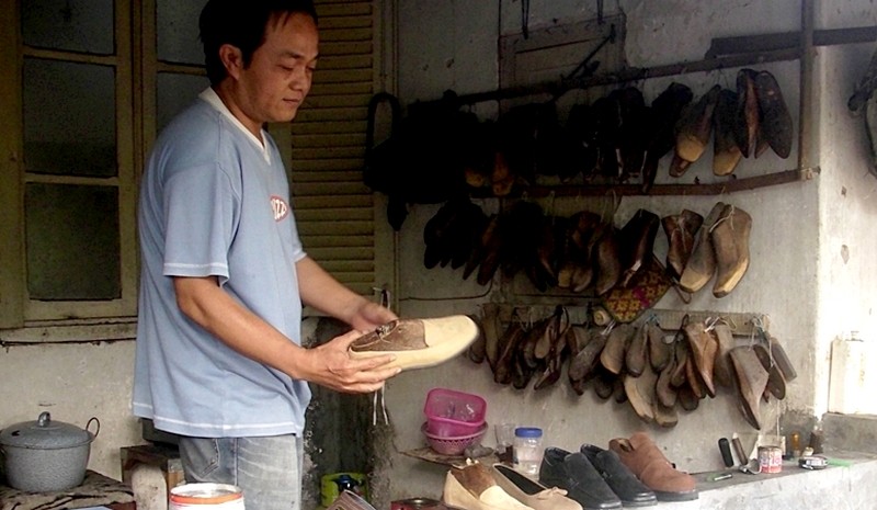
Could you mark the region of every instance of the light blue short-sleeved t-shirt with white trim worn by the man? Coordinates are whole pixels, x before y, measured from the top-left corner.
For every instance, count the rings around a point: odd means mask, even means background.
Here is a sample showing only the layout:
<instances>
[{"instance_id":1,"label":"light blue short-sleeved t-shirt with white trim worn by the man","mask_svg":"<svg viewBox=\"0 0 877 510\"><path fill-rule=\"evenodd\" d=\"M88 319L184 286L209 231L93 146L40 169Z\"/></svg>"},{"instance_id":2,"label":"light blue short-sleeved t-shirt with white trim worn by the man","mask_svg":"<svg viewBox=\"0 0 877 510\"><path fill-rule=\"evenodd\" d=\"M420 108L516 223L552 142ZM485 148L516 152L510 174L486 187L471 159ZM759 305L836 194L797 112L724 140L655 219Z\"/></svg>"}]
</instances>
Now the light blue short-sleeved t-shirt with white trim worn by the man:
<instances>
[{"instance_id":1,"label":"light blue short-sleeved t-shirt with white trim worn by the man","mask_svg":"<svg viewBox=\"0 0 877 510\"><path fill-rule=\"evenodd\" d=\"M228 348L176 306L171 276L223 288L300 344L305 257L277 147L208 89L156 141L140 188L134 413L202 438L301 434L306 382ZM251 339L260 341L258 338Z\"/></svg>"}]
</instances>

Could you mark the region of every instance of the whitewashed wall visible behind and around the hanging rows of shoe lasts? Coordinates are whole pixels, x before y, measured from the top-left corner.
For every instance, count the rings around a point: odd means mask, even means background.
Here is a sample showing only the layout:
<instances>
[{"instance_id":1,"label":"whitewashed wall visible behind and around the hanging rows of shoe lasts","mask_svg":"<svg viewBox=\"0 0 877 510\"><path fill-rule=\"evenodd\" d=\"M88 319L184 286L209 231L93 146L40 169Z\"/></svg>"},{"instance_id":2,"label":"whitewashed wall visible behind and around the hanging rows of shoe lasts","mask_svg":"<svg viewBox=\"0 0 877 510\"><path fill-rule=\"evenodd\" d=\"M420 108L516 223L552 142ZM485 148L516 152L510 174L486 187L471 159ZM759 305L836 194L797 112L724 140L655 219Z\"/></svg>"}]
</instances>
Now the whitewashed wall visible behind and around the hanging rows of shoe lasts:
<instances>
[{"instance_id":1,"label":"whitewashed wall visible behind and around the hanging rows of shoe lasts","mask_svg":"<svg viewBox=\"0 0 877 510\"><path fill-rule=\"evenodd\" d=\"M399 16L398 94L403 104L437 99L446 89L470 93L497 87L496 38L520 32L521 3L505 0L500 3L499 12L490 12L497 7L486 3L399 0L402 15ZM595 2L591 1L532 0L529 3L531 30L595 16ZM795 31L801 22L800 2L793 0L631 0L605 2L604 14L614 14L618 4L627 15L626 57L629 65L638 67L698 60L714 37ZM817 27L874 24L870 7L865 0L840 4L824 1L817 5ZM435 34L436 20L456 21L453 27L442 27L440 41ZM489 36L471 37L468 30L472 20L483 20L483 29L492 31ZM447 41L448 37L456 39ZM865 330L870 319L872 305L866 290L874 282L875 264L867 257L874 253L877 240L868 235L867 227L877 213L875 205L866 200L877 181L865 168L864 132L859 124L846 117L844 106L851 81L857 79L861 66L869 57L865 49L858 46L819 49L817 94L823 99L816 102L815 122L822 118L827 123L821 131L816 131L822 147L822 158L817 160L822 174L815 180L720 196L625 197L615 215L617 226L624 225L639 207L660 216L687 207L706 216L718 200L751 214L751 264L731 295L717 299L708 291L701 292L686 306L670 293L657 307L766 316L770 331L783 342L799 375L788 385L785 400L774 399L762 406L767 423L765 432L778 432L778 419L785 412L816 416L825 411L828 344L841 330ZM854 55L847 55L850 52ZM447 65L436 66L435 63ZM777 78L793 111L797 133L798 63L751 67L770 70ZM637 86L650 101L671 80L688 84L695 93L715 83L733 88L736 72L737 69L726 69L690 73L646 80ZM493 110L496 106L480 104L476 112L483 116L485 112ZM710 181L708 161L709 158L698 161L685 178L698 175L704 182ZM662 162L658 182L672 182L665 171L668 163ZM768 151L756 160L741 162L737 173L745 177L796 167L797 141L787 160ZM847 189L845 197L841 195L843 185ZM589 204L600 206L599 202L583 199L568 206L588 207ZM481 205L488 212L497 207L491 200L482 201ZM399 236L399 252L402 253L399 298L405 316L476 313L486 299L488 290L463 281L460 270L423 268L423 226L436 209L434 205L417 205ZM842 243L850 246L853 253L847 263L840 261ZM663 256L665 247L663 233L660 233L656 251ZM513 296L506 297L514 301ZM856 327L852 328L852 324ZM515 390L494 384L487 364L476 365L460 359L434 369L403 373L388 385L387 400L399 452L424 445L419 431L423 421L422 405L426 392L435 386L479 394L488 400L489 423L511 421L543 427L547 443L567 450L576 450L584 442L605 447L612 438L647 430L669 458L693 472L722 467L716 449L719 438L734 432L754 432L743 421L730 395L702 400L695 411L681 412L675 428L664 430L639 421L626 404L605 403L591 390L578 397L565 378L540 392ZM806 438L807 431L804 432ZM492 433L485 438L485 444L493 444L493 441ZM445 473L444 466L397 454L391 476L392 496L438 497Z\"/></svg>"}]
</instances>

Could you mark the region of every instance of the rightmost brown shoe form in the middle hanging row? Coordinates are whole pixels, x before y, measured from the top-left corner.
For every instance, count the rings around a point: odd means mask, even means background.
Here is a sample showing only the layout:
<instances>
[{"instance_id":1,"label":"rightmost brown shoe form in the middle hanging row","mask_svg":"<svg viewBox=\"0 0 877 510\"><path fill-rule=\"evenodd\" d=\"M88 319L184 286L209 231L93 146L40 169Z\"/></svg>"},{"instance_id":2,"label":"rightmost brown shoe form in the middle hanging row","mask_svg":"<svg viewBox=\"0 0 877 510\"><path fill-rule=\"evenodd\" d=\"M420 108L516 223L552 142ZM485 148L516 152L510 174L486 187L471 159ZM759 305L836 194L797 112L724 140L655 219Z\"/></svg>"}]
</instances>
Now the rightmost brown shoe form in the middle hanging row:
<instances>
[{"instance_id":1,"label":"rightmost brown shoe form in the middle hanging row","mask_svg":"<svg viewBox=\"0 0 877 510\"><path fill-rule=\"evenodd\" d=\"M710 239L716 254L716 283L713 295L725 297L733 291L749 269L749 233L752 217L733 205L725 206L719 219L710 228Z\"/></svg>"}]
</instances>

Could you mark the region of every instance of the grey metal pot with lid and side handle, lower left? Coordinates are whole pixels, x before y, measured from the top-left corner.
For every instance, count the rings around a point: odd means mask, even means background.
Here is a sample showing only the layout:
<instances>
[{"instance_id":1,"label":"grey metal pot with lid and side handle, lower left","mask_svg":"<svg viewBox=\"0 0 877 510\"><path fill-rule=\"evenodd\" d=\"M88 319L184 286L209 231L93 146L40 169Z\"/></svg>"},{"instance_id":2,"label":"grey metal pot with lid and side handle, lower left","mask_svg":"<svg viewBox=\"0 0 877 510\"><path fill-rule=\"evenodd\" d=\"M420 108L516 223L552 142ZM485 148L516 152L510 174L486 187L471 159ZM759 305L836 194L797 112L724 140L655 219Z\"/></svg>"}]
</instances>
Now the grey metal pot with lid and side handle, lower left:
<instances>
[{"instance_id":1,"label":"grey metal pot with lid and side handle, lower left","mask_svg":"<svg viewBox=\"0 0 877 510\"><path fill-rule=\"evenodd\" d=\"M88 429L95 422L92 433ZM10 487L29 492L67 490L82 484L89 464L91 442L101 422L91 418L86 429L52 421L48 412L36 421L24 421L0 432L7 481Z\"/></svg>"}]
</instances>

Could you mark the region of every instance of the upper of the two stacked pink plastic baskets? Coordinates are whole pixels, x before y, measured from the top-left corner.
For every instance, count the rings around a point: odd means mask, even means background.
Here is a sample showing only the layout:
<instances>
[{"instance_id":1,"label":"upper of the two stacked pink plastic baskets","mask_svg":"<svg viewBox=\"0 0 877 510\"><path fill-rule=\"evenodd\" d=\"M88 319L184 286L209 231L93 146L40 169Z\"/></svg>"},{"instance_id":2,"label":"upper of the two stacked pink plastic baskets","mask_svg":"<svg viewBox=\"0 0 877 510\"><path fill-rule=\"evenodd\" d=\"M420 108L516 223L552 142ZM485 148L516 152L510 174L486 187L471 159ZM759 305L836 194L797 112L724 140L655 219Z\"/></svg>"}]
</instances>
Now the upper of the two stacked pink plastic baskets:
<instances>
[{"instance_id":1,"label":"upper of the two stacked pink plastic baskets","mask_svg":"<svg viewBox=\"0 0 877 510\"><path fill-rule=\"evenodd\" d=\"M426 431L437 438L475 434L485 424L487 403L478 395L446 388L433 388L423 406Z\"/></svg>"}]
</instances>

